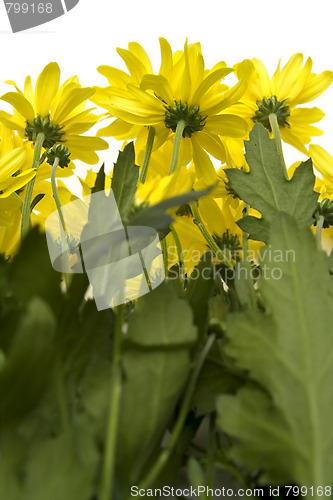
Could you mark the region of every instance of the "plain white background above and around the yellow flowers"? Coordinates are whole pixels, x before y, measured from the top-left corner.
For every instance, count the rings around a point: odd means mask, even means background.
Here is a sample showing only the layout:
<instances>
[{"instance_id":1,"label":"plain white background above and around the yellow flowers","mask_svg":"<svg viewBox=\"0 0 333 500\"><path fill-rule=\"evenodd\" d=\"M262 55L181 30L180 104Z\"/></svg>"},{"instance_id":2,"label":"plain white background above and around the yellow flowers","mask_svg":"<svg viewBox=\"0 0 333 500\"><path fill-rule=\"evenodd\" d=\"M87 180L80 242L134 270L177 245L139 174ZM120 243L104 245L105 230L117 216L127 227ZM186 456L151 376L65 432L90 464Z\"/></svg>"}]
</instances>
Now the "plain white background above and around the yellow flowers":
<instances>
[{"instance_id":1,"label":"plain white background above and around the yellow flowers","mask_svg":"<svg viewBox=\"0 0 333 500\"><path fill-rule=\"evenodd\" d=\"M293 53L303 52L313 58L315 72L332 70L332 6L332 0L80 0L64 16L13 34L1 1L0 92L8 89L4 80L22 86L27 74L34 80L50 61L59 63L63 79L78 74L83 85L104 86L106 79L96 67L125 69L116 47L126 48L134 40L146 48L158 70L159 36L174 50L183 47L186 37L200 41L208 68L220 60L232 66L258 57L273 72L279 58L287 62ZM320 122L325 134L314 142L333 155L333 86L309 105L326 113ZM107 154L114 158L112 151ZM289 159L302 155L287 152Z\"/></svg>"}]
</instances>

